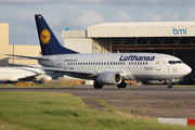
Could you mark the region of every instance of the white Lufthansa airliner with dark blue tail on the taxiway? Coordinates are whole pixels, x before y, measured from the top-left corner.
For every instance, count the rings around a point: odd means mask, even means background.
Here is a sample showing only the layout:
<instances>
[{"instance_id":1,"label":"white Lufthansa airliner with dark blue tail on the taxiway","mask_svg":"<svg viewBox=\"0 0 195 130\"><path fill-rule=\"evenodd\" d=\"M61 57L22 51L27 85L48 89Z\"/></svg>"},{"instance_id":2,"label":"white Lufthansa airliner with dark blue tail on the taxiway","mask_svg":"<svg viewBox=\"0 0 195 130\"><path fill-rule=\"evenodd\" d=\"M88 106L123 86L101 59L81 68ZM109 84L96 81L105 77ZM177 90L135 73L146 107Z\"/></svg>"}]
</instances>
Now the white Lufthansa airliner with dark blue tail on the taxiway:
<instances>
[{"instance_id":1,"label":"white Lufthansa airliner with dark blue tail on the taxiway","mask_svg":"<svg viewBox=\"0 0 195 130\"><path fill-rule=\"evenodd\" d=\"M180 58L160 53L99 53L81 54L64 48L42 15L35 15L42 56L21 57L36 58L46 70L93 79L94 88L103 84L117 84L126 88L125 80L173 80L192 72ZM12 55L12 54L8 54ZM13 55L12 55L13 56ZM167 88L171 88L168 82Z\"/></svg>"}]
</instances>

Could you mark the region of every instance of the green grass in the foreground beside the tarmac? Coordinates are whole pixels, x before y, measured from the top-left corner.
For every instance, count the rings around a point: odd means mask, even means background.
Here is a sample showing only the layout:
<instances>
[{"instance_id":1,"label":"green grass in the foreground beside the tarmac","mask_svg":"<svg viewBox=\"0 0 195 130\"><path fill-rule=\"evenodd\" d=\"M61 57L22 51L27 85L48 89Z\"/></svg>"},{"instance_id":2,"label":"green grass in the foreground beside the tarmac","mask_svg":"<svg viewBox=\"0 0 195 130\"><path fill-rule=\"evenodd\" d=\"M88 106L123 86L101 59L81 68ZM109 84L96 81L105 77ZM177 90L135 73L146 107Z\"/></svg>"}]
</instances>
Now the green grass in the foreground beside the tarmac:
<instances>
[{"instance_id":1,"label":"green grass in the foreground beside the tarmac","mask_svg":"<svg viewBox=\"0 0 195 130\"><path fill-rule=\"evenodd\" d=\"M102 104L106 104L102 102ZM105 105L106 107L109 107ZM55 92L0 92L1 130L178 130L158 123L88 108L80 98Z\"/></svg>"}]
</instances>

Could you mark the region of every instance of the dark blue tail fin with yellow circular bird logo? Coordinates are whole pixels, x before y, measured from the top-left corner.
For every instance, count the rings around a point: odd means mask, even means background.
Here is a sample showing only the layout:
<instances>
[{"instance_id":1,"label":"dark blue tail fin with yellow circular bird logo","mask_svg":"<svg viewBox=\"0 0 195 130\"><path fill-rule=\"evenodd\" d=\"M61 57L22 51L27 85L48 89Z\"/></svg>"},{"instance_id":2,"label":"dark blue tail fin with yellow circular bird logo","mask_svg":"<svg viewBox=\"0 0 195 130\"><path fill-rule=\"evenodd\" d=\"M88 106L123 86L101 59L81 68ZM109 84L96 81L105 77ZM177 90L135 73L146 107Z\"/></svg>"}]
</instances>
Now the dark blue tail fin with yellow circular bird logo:
<instances>
[{"instance_id":1,"label":"dark blue tail fin with yellow circular bird logo","mask_svg":"<svg viewBox=\"0 0 195 130\"><path fill-rule=\"evenodd\" d=\"M41 14L36 14L35 20L42 55L78 53L61 46Z\"/></svg>"}]
</instances>

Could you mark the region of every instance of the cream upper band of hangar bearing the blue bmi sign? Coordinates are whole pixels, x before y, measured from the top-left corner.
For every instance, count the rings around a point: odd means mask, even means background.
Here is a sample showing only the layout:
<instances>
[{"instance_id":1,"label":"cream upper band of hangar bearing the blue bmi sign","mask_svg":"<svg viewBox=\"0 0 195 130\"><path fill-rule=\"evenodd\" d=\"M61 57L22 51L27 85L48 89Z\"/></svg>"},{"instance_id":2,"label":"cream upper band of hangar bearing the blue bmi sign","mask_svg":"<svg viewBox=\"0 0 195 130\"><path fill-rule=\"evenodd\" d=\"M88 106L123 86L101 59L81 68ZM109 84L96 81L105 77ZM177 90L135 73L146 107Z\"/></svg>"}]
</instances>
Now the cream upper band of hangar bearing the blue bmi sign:
<instances>
[{"instance_id":1,"label":"cream upper band of hangar bearing the blue bmi sign","mask_svg":"<svg viewBox=\"0 0 195 130\"><path fill-rule=\"evenodd\" d=\"M90 38L192 36L195 36L195 22L103 23L88 27Z\"/></svg>"}]
</instances>

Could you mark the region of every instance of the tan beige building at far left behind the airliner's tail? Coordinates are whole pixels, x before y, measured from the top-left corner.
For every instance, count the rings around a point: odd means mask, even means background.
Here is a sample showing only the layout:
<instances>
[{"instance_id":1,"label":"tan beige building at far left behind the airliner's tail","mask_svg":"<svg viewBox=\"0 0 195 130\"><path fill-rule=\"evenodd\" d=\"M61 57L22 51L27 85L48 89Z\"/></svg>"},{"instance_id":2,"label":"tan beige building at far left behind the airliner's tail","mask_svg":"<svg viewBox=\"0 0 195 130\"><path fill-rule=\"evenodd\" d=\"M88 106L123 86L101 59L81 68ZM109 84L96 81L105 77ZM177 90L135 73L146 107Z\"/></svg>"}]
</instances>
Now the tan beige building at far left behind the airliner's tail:
<instances>
[{"instance_id":1,"label":"tan beige building at far left behind the airliner's tail","mask_svg":"<svg viewBox=\"0 0 195 130\"><path fill-rule=\"evenodd\" d=\"M39 46L9 44L9 23L0 23L0 66L37 65L37 60L10 57L4 54L25 54L39 56Z\"/></svg>"}]
</instances>

